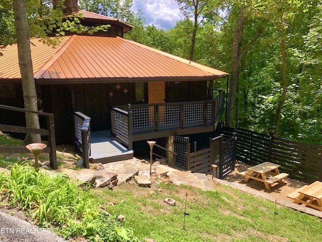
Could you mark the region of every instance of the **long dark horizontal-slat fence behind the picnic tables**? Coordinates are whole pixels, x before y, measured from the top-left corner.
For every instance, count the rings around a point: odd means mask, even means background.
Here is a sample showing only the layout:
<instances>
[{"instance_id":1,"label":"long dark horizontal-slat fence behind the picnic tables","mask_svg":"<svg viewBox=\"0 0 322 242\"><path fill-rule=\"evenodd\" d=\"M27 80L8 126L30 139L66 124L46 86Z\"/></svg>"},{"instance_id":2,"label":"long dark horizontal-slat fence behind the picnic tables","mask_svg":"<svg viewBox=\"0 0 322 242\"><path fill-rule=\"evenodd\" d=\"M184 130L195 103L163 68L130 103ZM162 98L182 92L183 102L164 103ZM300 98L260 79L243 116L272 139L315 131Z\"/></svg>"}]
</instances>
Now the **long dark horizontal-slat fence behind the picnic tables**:
<instances>
[{"instance_id":1,"label":"long dark horizontal-slat fence behind the picnic tables","mask_svg":"<svg viewBox=\"0 0 322 242\"><path fill-rule=\"evenodd\" d=\"M322 181L322 145L276 138L245 129L223 128L226 134L236 132L236 158L250 165L270 161L281 165L290 178L312 183Z\"/></svg>"}]
</instances>

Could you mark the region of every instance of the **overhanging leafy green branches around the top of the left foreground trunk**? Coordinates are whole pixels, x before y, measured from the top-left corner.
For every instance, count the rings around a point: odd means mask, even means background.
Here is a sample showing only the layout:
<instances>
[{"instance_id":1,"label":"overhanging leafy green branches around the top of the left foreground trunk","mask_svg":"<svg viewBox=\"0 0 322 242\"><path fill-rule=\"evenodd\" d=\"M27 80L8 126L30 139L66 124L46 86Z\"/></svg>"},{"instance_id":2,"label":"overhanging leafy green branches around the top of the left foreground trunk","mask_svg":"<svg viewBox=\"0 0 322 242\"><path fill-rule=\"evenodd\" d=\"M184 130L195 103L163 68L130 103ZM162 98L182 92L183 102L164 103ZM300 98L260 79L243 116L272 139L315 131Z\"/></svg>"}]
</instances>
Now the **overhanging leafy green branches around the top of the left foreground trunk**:
<instances>
[{"instance_id":1,"label":"overhanging leafy green branches around the top of the left foreground trunk","mask_svg":"<svg viewBox=\"0 0 322 242\"><path fill-rule=\"evenodd\" d=\"M30 37L41 38L44 43L55 46L59 43L60 36L66 33L93 34L98 31L106 31L110 26L98 27L83 26L79 19L82 15L71 14L66 17L60 8L53 9L51 5L37 0L26 2ZM0 5L0 44L4 46L17 42L14 27L12 2L4 0ZM55 38L49 38L55 37Z\"/></svg>"}]
</instances>

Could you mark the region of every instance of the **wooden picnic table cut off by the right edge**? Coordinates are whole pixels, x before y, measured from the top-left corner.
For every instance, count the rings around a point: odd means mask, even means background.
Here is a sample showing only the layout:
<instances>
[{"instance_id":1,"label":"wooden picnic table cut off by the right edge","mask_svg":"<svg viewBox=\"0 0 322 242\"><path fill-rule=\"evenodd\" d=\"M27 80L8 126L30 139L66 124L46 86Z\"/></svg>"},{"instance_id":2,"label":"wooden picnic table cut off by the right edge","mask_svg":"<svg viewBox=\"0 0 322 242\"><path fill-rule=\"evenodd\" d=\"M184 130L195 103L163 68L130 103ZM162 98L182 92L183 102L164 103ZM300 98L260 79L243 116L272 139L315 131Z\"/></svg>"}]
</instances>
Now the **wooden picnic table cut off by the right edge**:
<instances>
[{"instance_id":1,"label":"wooden picnic table cut off by the right edge","mask_svg":"<svg viewBox=\"0 0 322 242\"><path fill-rule=\"evenodd\" d=\"M314 183L304 186L297 190L298 196L294 198L296 204L304 204L306 206L322 211L322 182L314 181ZM316 201L316 204L313 202Z\"/></svg>"}]
</instances>

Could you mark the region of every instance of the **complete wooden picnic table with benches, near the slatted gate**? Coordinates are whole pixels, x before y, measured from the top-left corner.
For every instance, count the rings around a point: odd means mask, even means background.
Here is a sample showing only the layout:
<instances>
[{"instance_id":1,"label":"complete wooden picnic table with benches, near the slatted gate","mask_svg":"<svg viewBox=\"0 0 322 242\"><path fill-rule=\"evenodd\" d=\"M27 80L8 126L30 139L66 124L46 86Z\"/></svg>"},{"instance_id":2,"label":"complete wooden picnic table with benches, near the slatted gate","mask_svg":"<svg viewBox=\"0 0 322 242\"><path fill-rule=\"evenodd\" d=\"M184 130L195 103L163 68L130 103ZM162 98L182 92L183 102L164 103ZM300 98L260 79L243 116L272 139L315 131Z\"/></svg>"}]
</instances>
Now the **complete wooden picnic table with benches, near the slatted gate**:
<instances>
[{"instance_id":1,"label":"complete wooden picnic table with benches, near the slatted gate","mask_svg":"<svg viewBox=\"0 0 322 242\"><path fill-rule=\"evenodd\" d=\"M245 183L249 179L259 180L262 181L265 184L265 188L267 190L271 190L269 185L272 185L276 182L283 184L282 178L285 178L288 176L287 173L280 173L278 168L280 165L274 164L271 162L264 162L255 166L252 166L248 168L248 171L241 172L240 174L245 176ZM267 179L266 173L272 174L273 177Z\"/></svg>"}]
</instances>

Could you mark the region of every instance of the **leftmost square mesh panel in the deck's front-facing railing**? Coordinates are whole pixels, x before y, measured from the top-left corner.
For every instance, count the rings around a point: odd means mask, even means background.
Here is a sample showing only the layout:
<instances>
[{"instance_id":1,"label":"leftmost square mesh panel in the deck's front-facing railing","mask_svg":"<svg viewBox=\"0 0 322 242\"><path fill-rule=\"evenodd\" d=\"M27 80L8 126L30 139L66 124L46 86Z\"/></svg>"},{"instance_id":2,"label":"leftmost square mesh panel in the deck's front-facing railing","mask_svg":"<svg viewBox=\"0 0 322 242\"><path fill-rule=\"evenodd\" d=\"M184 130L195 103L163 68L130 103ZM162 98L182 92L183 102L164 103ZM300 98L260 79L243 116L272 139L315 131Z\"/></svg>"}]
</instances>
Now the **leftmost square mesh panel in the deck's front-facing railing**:
<instances>
[{"instance_id":1,"label":"leftmost square mesh panel in the deck's front-facing railing","mask_svg":"<svg viewBox=\"0 0 322 242\"><path fill-rule=\"evenodd\" d=\"M131 111L133 130L154 126L154 106L132 107Z\"/></svg>"}]
</instances>

